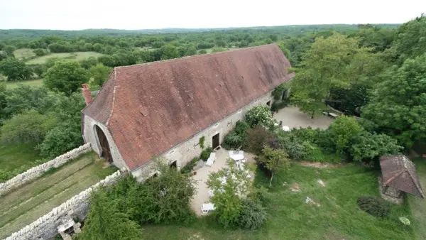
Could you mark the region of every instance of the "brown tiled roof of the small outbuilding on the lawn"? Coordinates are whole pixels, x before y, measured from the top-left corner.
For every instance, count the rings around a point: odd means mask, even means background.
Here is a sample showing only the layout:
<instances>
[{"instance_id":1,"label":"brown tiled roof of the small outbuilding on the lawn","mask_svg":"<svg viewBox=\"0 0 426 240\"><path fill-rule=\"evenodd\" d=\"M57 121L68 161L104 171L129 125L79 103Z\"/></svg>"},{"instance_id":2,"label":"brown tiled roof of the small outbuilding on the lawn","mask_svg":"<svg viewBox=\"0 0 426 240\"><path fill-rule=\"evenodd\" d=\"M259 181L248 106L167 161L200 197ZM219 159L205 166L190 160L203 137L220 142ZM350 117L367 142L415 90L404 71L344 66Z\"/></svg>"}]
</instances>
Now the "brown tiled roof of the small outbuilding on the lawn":
<instances>
[{"instance_id":1,"label":"brown tiled roof of the small outbuilding on the lawn","mask_svg":"<svg viewBox=\"0 0 426 240\"><path fill-rule=\"evenodd\" d=\"M383 185L394 187L418 197L425 197L415 173L415 165L403 155L381 156Z\"/></svg>"}]
</instances>

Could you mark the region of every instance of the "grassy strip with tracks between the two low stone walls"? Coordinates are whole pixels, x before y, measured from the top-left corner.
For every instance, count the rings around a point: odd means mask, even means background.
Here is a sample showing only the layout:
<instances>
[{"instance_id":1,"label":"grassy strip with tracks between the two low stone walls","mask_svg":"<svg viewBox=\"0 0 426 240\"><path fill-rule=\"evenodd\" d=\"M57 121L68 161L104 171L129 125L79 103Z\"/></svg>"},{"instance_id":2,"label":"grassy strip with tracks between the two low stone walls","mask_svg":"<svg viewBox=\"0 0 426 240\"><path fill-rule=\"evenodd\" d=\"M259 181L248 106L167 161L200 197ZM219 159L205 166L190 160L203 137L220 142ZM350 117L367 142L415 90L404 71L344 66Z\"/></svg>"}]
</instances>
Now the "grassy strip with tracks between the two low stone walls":
<instances>
[{"instance_id":1,"label":"grassy strip with tracks between the two low stone walls","mask_svg":"<svg viewBox=\"0 0 426 240\"><path fill-rule=\"evenodd\" d=\"M116 168L104 168L93 152L0 197L0 239L25 227Z\"/></svg>"}]
</instances>

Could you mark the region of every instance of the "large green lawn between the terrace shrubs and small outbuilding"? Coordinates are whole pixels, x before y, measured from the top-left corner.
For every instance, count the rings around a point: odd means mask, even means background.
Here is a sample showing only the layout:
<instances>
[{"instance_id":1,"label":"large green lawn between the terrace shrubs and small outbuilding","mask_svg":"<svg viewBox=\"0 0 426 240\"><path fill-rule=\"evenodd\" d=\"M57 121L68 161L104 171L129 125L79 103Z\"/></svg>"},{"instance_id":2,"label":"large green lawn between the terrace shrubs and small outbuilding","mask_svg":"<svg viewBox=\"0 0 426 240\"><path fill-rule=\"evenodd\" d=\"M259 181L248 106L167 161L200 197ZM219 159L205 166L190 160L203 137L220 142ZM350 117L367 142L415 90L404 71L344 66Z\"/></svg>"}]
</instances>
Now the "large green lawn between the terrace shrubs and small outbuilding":
<instances>
[{"instance_id":1,"label":"large green lawn between the terrace shrubs and small outbuilding","mask_svg":"<svg viewBox=\"0 0 426 240\"><path fill-rule=\"evenodd\" d=\"M383 219L359 209L359 195L378 196L378 172L356 165L324 169L294 163L273 181L268 221L258 231L224 230L211 217L189 226L155 225L143 227L144 239L413 239L412 227L405 227L398 217L409 216L407 204L393 204L391 214ZM321 187L317 180L323 180ZM256 183L268 185L263 174ZM287 185L283 186L283 183ZM289 185L297 182L300 192ZM320 207L306 204L311 197Z\"/></svg>"}]
</instances>

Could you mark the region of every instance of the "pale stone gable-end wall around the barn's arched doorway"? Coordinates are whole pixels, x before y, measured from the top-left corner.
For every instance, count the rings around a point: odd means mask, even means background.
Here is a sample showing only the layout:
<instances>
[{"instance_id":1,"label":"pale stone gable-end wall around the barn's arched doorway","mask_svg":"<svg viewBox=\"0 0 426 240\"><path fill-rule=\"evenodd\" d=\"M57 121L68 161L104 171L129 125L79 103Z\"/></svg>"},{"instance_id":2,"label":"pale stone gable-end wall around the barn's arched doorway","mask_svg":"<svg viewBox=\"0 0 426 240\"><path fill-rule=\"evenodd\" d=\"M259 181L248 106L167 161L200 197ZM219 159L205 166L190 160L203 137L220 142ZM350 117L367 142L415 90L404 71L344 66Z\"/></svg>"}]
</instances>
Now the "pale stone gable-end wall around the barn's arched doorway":
<instances>
[{"instance_id":1,"label":"pale stone gable-end wall around the barn's arched doorway","mask_svg":"<svg viewBox=\"0 0 426 240\"><path fill-rule=\"evenodd\" d=\"M87 115L84 115L84 143L90 143L92 145L93 151L95 151L97 155L101 156L102 148L97 137L96 129L94 128L96 125L99 126L102 131L104 131L104 134L107 137L114 165L116 165L116 167L121 170L129 170L129 168L127 168L126 163L124 163L123 157L121 157L121 153L119 152L119 148L117 148L107 127Z\"/></svg>"}]
</instances>

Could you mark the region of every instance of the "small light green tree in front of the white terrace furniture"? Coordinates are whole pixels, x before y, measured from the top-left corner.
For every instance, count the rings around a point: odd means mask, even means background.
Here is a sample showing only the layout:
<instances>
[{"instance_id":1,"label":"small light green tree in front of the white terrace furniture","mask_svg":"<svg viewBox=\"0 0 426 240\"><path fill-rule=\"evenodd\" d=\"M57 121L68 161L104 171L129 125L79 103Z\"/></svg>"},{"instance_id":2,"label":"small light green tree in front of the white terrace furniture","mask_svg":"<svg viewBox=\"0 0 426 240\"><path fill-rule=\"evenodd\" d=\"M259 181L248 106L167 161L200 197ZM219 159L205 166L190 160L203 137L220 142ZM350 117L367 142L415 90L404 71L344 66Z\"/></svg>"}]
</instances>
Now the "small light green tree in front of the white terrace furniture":
<instances>
[{"instance_id":1,"label":"small light green tree in front of the white terrace furniture","mask_svg":"<svg viewBox=\"0 0 426 240\"><path fill-rule=\"evenodd\" d=\"M233 176L233 177L231 177ZM236 168L232 160L227 162L227 168L210 173L207 186L214 195L210 201L216 208L214 215L223 227L237 226L243 210L243 202L239 196L245 195L249 190L247 173ZM222 184L222 179L226 181Z\"/></svg>"}]
</instances>

